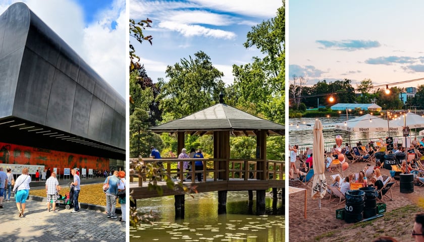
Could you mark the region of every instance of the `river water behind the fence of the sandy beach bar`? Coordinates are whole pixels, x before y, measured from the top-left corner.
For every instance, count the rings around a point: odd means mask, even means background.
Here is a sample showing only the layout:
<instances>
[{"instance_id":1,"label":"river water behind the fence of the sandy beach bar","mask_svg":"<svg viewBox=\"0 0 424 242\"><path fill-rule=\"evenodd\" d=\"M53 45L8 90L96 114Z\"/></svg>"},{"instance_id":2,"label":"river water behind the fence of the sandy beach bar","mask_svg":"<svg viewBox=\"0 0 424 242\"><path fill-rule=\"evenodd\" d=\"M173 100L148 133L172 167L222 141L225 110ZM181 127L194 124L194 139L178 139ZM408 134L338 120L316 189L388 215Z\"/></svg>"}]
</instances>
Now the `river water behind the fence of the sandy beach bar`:
<instances>
[{"instance_id":1,"label":"river water behind the fence of the sandy beach bar","mask_svg":"<svg viewBox=\"0 0 424 242\"><path fill-rule=\"evenodd\" d=\"M349 116L349 119L352 119L356 116ZM347 132L343 130L336 130L335 124L341 123L346 121L346 116L340 116L340 117L322 117L320 118L321 123L323 124L324 130L324 142L325 143L332 143L335 144L335 138L337 135L340 135L343 139L343 144L346 142L349 142L350 140L354 141L354 144L356 144L357 140L366 141L368 137L370 139L375 138L384 138L388 137L388 132ZM312 146L313 142L313 126L315 124L315 118L310 117L301 117L301 118L290 118L289 119L289 144L290 145L310 145ZM299 128L297 128L297 125ZM411 130L411 135L414 134L414 130ZM399 140L401 140L402 132L390 132L391 137L399 137ZM399 143L402 143L399 141ZM362 144L364 144L362 142Z\"/></svg>"}]
</instances>

